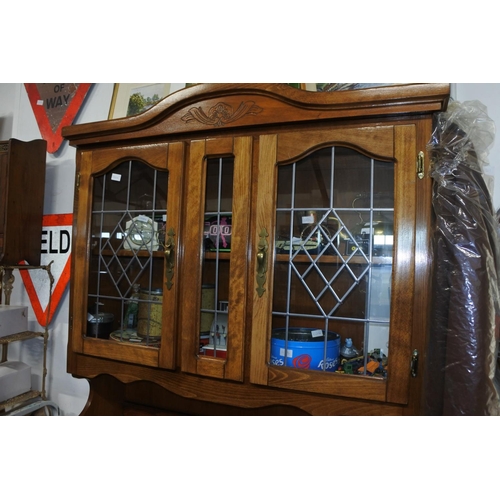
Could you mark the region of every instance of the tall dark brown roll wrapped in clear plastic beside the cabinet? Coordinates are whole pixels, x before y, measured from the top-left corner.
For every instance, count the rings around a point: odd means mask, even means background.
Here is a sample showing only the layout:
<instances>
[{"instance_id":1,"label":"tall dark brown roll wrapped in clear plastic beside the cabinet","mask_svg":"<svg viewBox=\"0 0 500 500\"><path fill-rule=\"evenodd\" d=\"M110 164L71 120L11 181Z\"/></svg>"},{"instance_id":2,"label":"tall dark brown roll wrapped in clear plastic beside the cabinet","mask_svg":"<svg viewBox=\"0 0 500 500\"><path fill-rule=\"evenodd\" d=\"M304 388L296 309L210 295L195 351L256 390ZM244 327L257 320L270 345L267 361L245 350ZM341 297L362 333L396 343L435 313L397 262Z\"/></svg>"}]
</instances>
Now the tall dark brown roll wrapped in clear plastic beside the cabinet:
<instances>
[{"instance_id":1,"label":"tall dark brown roll wrapped in clear plastic beside the cabinet","mask_svg":"<svg viewBox=\"0 0 500 500\"><path fill-rule=\"evenodd\" d=\"M500 415L499 224L483 167L495 124L478 101L436 115L434 266L424 413Z\"/></svg>"}]
</instances>

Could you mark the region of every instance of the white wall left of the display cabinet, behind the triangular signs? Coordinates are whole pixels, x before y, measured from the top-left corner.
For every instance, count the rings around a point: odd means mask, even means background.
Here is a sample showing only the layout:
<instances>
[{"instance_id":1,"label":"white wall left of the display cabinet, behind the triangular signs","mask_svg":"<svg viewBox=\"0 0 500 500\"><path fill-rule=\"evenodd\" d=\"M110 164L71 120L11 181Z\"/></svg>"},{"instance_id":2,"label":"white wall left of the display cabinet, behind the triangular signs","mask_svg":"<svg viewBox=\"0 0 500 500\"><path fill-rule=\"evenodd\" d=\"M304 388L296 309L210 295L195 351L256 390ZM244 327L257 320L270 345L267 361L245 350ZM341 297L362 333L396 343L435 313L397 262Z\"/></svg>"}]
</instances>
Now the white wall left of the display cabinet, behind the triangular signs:
<instances>
[{"instance_id":1,"label":"white wall left of the display cabinet, behind the triangular signs","mask_svg":"<svg viewBox=\"0 0 500 500\"><path fill-rule=\"evenodd\" d=\"M89 90L84 105L74 123L105 120L108 117L113 84L95 84ZM11 137L29 141L39 139L40 131L31 109L27 93L22 84L0 84L0 140ZM55 154L47 153L45 183L45 214L73 212L75 178L75 148L64 141ZM31 309L29 298L21 285L19 273L15 273L12 304L29 306L29 327L40 330ZM68 340L69 287L67 287L59 308L49 328L47 355L47 388L49 399L61 409L63 415L78 415L88 398L89 385L66 373L66 347ZM34 339L9 346L9 359L21 359L32 367L32 383L40 387L42 343Z\"/></svg>"}]
</instances>

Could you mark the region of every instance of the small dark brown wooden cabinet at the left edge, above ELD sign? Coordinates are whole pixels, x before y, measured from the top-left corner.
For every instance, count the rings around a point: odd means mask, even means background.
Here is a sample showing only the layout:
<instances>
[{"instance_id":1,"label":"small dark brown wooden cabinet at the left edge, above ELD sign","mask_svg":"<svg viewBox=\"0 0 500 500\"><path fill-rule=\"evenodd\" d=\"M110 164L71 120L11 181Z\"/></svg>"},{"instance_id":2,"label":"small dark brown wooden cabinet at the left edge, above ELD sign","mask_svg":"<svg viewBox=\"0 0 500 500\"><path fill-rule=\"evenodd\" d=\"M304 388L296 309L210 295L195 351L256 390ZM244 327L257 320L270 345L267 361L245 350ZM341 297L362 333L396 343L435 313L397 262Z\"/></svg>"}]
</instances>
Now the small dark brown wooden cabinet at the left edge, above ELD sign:
<instances>
[{"instance_id":1,"label":"small dark brown wooden cabinet at the left edge, above ELD sign","mask_svg":"<svg viewBox=\"0 0 500 500\"><path fill-rule=\"evenodd\" d=\"M0 264L40 265L47 143L0 141Z\"/></svg>"}]
</instances>

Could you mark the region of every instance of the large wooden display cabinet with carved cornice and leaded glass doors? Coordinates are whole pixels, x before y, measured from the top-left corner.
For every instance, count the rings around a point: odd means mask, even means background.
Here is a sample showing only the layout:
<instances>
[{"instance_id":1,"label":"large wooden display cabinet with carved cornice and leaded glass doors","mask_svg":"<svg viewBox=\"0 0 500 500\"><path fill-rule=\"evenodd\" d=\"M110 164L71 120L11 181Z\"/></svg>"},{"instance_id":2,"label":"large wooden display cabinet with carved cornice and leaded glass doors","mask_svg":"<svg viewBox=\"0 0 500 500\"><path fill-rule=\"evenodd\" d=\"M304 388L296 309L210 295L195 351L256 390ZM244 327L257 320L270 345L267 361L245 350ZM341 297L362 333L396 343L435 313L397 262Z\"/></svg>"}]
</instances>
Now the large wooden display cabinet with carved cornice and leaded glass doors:
<instances>
[{"instance_id":1,"label":"large wooden display cabinet with carved cornice and leaded glass doors","mask_svg":"<svg viewBox=\"0 0 500 500\"><path fill-rule=\"evenodd\" d=\"M448 84L200 84L75 125L84 414L419 414Z\"/></svg>"}]
</instances>

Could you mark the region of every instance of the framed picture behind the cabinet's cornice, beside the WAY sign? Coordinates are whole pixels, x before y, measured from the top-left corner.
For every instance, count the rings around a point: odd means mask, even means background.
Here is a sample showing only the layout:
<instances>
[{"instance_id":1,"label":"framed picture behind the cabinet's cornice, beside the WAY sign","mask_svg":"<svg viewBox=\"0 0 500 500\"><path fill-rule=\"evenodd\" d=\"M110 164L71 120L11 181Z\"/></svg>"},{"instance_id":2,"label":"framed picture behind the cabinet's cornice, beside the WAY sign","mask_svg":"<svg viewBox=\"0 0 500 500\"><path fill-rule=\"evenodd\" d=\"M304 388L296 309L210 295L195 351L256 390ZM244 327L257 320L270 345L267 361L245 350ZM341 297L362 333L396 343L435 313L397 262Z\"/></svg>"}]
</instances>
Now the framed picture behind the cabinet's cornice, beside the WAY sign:
<instances>
[{"instance_id":1,"label":"framed picture behind the cabinet's cornice, beside the WAY sign","mask_svg":"<svg viewBox=\"0 0 500 500\"><path fill-rule=\"evenodd\" d=\"M171 83L115 83L108 118L142 113L171 92Z\"/></svg>"}]
</instances>

